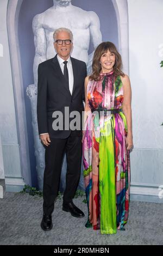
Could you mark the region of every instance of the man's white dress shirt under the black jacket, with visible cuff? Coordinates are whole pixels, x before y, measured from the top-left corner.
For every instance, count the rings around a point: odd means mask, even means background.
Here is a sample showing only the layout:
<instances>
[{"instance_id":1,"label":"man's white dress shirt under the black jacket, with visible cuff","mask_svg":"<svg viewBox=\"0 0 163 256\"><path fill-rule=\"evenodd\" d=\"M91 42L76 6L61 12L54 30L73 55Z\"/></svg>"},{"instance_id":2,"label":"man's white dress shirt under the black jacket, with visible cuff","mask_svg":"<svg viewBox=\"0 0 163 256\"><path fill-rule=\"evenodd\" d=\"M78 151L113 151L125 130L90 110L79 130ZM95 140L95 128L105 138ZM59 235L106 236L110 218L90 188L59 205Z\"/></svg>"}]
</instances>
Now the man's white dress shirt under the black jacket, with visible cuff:
<instances>
[{"instance_id":1,"label":"man's white dress shirt under the black jacket, with visible cuff","mask_svg":"<svg viewBox=\"0 0 163 256\"><path fill-rule=\"evenodd\" d=\"M58 59L58 62L59 62L59 65L60 65L60 68L61 68L61 71L64 75L64 59L62 59L61 57L59 57L59 55L57 54L57 59ZM70 93L72 95L72 90L73 90L73 69L72 69L72 63L71 63L71 58L69 57L67 59L67 69L68 69L68 82L69 82L69 90L70 90ZM40 135L43 135L43 134L47 134L47 133L40 133Z\"/></svg>"}]
</instances>

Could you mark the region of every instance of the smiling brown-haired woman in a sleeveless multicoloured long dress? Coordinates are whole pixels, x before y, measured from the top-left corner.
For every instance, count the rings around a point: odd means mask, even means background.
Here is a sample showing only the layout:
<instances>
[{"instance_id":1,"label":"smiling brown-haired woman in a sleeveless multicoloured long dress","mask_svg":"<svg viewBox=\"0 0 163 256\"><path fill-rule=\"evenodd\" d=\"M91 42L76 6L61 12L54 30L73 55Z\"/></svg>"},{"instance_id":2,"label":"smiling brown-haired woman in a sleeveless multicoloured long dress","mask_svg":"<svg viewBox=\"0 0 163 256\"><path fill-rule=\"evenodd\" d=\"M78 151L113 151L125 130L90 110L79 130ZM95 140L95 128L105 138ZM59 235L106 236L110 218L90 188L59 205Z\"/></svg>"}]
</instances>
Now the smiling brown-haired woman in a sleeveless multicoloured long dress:
<instances>
[{"instance_id":1,"label":"smiling brown-haired woman in a sleeveless multicoloured long dress","mask_svg":"<svg viewBox=\"0 0 163 256\"><path fill-rule=\"evenodd\" d=\"M115 234L128 220L133 134L130 80L112 42L96 48L92 74L85 78L85 99L85 227Z\"/></svg>"}]
</instances>

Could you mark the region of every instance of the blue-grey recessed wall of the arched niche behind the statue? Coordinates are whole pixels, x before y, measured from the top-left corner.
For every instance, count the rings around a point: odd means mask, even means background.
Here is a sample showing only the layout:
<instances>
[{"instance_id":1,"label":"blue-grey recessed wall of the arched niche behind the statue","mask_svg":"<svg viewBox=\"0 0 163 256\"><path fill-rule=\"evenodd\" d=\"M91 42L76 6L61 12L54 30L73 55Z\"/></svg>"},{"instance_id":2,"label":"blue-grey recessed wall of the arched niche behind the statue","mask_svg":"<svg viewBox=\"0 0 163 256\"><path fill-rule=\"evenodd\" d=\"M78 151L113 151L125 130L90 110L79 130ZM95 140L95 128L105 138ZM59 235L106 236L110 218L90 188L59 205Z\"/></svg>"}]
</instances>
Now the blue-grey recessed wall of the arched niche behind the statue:
<instances>
[{"instance_id":1,"label":"blue-grey recessed wall of the arched niche behind the statue","mask_svg":"<svg viewBox=\"0 0 163 256\"><path fill-rule=\"evenodd\" d=\"M72 4L84 10L95 11L101 23L103 41L112 41L118 47L118 28L114 6L111 0L72 0ZM36 160L34 155L34 138L32 129L32 114L30 100L26 95L26 88L34 83L33 60L35 55L34 35L32 20L36 14L42 13L52 7L52 0L28 0L23 1L18 19L18 38L20 42L21 66L24 87L24 98L27 115L27 131L29 141L30 167L32 185L37 187ZM90 42L89 52L92 51Z\"/></svg>"}]
</instances>

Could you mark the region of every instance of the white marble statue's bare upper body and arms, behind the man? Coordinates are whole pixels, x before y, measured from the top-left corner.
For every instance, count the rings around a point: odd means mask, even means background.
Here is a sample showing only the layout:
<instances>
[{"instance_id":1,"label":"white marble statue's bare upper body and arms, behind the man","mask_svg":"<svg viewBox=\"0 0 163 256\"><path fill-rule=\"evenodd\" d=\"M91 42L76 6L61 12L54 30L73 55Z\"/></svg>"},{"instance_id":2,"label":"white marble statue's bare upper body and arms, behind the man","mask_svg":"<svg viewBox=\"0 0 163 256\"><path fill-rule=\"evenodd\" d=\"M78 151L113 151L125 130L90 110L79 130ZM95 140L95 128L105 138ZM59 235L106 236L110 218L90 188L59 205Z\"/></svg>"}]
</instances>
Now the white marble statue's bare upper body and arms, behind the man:
<instances>
[{"instance_id":1,"label":"white marble statue's bare upper body and arms, behind the man","mask_svg":"<svg viewBox=\"0 0 163 256\"><path fill-rule=\"evenodd\" d=\"M34 81L37 84L37 66L54 57L53 33L60 27L69 28L73 33L71 56L83 60L90 72L92 55L88 54L90 39L94 49L102 42L99 18L94 11L85 11L71 4L71 0L54 0L53 7L33 19L35 42Z\"/></svg>"}]
</instances>

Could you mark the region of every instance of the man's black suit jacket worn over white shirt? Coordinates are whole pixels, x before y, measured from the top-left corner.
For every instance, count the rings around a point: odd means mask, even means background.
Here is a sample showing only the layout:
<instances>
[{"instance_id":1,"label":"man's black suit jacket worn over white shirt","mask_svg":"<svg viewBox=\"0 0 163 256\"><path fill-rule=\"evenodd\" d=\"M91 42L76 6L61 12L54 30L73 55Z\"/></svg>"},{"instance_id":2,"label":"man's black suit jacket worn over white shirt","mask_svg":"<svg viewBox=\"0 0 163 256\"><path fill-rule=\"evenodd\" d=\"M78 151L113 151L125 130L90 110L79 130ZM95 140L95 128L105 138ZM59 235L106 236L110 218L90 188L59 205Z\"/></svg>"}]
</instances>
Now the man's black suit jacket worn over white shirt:
<instances>
[{"instance_id":1,"label":"man's black suit jacket worn over white shirt","mask_svg":"<svg viewBox=\"0 0 163 256\"><path fill-rule=\"evenodd\" d=\"M86 77L86 64L78 59L71 58L73 69L73 92L68 89L68 84L62 74L57 55L38 66L38 90L37 90L37 123L40 133L49 133L52 138L67 138L71 130L53 130L52 123L56 118L52 117L54 111L61 111L65 120L65 107L69 111L80 113L80 130L76 130L77 136L82 135L82 111L84 110L84 80ZM70 119L71 121L72 119Z\"/></svg>"}]
</instances>

